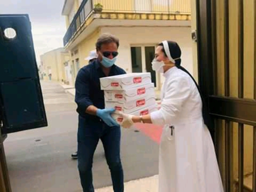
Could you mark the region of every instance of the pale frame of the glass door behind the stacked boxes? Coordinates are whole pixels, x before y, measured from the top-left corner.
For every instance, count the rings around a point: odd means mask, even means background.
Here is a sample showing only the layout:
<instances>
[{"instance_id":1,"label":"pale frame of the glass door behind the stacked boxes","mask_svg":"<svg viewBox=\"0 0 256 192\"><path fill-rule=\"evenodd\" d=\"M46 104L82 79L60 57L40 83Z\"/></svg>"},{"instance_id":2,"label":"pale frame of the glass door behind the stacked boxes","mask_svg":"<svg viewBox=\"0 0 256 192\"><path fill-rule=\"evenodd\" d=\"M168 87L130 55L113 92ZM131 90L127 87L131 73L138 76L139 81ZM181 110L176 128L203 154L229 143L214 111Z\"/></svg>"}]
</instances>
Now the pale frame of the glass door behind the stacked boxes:
<instances>
[{"instance_id":1,"label":"pale frame of the glass door behind the stacked boxes","mask_svg":"<svg viewBox=\"0 0 256 192\"><path fill-rule=\"evenodd\" d=\"M157 47L157 44L130 44L130 57L132 60L132 53L131 53L131 47L140 47L141 48L141 64L142 64L142 73L147 72L146 69L146 56L145 56L145 47ZM132 63L130 64L130 67L132 69ZM159 73L156 73L156 87L155 90L160 90L161 88L161 77Z\"/></svg>"}]
</instances>

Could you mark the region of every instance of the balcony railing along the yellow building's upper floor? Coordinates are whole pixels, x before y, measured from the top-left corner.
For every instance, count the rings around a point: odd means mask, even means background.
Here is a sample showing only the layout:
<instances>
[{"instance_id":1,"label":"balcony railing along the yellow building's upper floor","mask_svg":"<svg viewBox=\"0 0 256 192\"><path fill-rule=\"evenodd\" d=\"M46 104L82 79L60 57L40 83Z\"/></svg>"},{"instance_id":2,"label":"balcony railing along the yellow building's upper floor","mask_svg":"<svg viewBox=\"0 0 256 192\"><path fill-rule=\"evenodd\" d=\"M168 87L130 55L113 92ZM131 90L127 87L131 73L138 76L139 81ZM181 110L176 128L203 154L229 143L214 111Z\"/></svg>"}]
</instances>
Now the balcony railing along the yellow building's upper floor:
<instances>
[{"instance_id":1,"label":"balcony railing along the yellow building's upper floor","mask_svg":"<svg viewBox=\"0 0 256 192\"><path fill-rule=\"evenodd\" d=\"M191 13L190 0L83 0L63 38L64 46L97 3L103 5L103 12Z\"/></svg>"}]
</instances>

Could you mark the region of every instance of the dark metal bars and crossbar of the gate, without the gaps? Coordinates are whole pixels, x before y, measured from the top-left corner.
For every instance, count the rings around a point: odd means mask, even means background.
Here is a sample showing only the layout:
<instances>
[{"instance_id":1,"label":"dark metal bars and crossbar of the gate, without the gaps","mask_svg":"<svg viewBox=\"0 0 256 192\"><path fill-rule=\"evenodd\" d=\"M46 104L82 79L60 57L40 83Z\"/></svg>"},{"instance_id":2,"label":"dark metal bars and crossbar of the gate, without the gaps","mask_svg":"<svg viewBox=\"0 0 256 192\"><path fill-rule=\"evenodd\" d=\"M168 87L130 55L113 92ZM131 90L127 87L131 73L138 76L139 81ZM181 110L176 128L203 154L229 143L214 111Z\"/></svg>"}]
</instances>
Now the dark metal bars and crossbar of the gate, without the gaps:
<instances>
[{"instance_id":1,"label":"dark metal bars and crossbar of the gate, without the gaps","mask_svg":"<svg viewBox=\"0 0 256 192\"><path fill-rule=\"evenodd\" d=\"M229 4L225 2L225 15L228 15ZM225 96L217 95L217 44L216 44L216 4L211 0L196 0L197 52L198 52L198 83L207 107L212 117L224 120L225 135L225 188L231 191L233 179L231 153L233 150L231 138L231 123L238 123L238 190L244 191L244 124L253 126L253 150L256 151L256 84L254 83L254 99L243 98L243 65L244 65L244 5L239 1L238 28L238 98L229 96L229 20L224 18L224 60L225 60ZM256 3L254 2L254 11ZM256 13L254 13L256 14ZM254 17L255 18L255 17ZM256 36L256 19L254 36ZM254 38L256 45L256 39ZM256 53L256 49L254 50ZM254 54L254 80L256 81L256 54ZM214 125L213 118L212 124ZM218 124L215 124L216 127ZM220 127L221 129L223 127ZM213 140L217 142L215 133ZM256 153L253 153L252 187L256 191Z\"/></svg>"}]
</instances>

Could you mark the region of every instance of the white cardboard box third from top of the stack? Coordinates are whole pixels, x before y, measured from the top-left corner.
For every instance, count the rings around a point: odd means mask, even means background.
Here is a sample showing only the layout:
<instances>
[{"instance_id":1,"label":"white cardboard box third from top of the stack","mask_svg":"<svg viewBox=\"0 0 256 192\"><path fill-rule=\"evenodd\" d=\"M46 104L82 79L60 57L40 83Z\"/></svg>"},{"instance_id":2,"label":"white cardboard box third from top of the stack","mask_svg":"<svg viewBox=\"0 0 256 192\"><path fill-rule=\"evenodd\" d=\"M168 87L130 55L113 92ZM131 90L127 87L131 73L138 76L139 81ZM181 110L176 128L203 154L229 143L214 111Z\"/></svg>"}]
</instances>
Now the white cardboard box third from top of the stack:
<instances>
[{"instance_id":1,"label":"white cardboard box third from top of the stack","mask_svg":"<svg viewBox=\"0 0 256 192\"><path fill-rule=\"evenodd\" d=\"M129 102L110 102L105 101L105 108L115 108L116 110L122 111L124 113L133 113L134 111L140 110L142 108L155 105L156 99L154 96L143 97L137 100L132 100Z\"/></svg>"}]
</instances>

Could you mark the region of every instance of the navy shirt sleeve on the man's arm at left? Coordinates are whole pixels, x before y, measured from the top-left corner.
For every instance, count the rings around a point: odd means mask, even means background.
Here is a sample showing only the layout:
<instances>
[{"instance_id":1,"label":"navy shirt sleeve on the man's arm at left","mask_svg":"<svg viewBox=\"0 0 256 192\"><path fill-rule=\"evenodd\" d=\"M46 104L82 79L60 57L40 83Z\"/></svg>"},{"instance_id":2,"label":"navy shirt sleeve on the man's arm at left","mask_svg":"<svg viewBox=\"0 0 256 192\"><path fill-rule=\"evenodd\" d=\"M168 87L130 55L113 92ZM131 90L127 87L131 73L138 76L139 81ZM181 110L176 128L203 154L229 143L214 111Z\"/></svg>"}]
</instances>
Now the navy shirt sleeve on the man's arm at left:
<instances>
[{"instance_id":1,"label":"navy shirt sleeve on the man's arm at left","mask_svg":"<svg viewBox=\"0 0 256 192\"><path fill-rule=\"evenodd\" d=\"M85 69L80 69L76 76L76 94L75 102L77 104L77 109L85 113L86 109L93 105L90 100L90 80L89 80L89 71Z\"/></svg>"}]
</instances>

